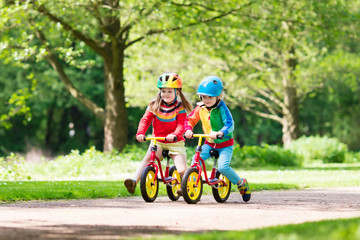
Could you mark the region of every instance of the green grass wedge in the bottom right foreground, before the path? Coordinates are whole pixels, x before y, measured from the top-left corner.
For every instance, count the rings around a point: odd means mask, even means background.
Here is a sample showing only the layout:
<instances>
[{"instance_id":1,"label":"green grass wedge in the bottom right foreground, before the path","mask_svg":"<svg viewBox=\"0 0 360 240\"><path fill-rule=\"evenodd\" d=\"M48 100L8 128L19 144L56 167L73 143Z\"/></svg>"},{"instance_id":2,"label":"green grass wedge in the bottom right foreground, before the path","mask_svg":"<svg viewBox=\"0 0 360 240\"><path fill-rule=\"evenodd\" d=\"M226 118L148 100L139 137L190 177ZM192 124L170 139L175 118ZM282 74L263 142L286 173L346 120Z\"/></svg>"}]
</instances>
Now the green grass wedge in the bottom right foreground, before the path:
<instances>
[{"instance_id":1,"label":"green grass wedge in the bottom right foreground, before the path","mask_svg":"<svg viewBox=\"0 0 360 240\"><path fill-rule=\"evenodd\" d=\"M201 234L157 235L152 239L179 240L357 240L360 218L308 222L248 231L213 231Z\"/></svg>"}]
</instances>

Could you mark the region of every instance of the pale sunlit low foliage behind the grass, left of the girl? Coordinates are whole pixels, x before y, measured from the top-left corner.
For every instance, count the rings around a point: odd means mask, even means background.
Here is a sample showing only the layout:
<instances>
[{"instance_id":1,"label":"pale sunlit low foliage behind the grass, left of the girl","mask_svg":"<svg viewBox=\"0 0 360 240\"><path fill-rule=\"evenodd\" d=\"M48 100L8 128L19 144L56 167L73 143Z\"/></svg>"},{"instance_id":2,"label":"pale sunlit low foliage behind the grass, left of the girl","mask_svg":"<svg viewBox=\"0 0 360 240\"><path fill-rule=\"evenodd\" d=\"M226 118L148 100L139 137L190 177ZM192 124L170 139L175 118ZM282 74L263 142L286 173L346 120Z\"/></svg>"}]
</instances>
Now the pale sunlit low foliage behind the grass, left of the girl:
<instances>
[{"instance_id":1,"label":"pale sunlit low foliage behind the grass, left of the girl","mask_svg":"<svg viewBox=\"0 0 360 240\"><path fill-rule=\"evenodd\" d=\"M131 149L131 150L130 150ZM7 181L46 179L118 179L120 174L133 172L146 150L132 146L124 153L102 153L94 147L40 163L26 162L11 155L0 162L0 179Z\"/></svg>"}]
</instances>

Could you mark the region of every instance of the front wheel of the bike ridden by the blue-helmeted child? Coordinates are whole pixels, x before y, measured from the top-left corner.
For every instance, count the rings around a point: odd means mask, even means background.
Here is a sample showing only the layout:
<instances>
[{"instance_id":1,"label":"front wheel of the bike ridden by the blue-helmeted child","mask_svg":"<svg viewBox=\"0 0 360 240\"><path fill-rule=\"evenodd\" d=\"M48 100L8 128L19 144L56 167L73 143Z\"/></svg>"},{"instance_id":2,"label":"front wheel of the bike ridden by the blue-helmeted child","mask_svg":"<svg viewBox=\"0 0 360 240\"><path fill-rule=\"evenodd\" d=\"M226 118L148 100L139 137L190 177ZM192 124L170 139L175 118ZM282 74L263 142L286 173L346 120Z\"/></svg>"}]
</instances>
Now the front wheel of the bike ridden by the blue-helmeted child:
<instances>
[{"instance_id":1,"label":"front wheel of the bike ridden by the blue-helmeted child","mask_svg":"<svg viewBox=\"0 0 360 240\"><path fill-rule=\"evenodd\" d=\"M199 179L199 184L196 186L197 179ZM181 182L181 189L187 203L195 204L200 200L203 184L199 171L196 168L186 170Z\"/></svg>"}]
</instances>

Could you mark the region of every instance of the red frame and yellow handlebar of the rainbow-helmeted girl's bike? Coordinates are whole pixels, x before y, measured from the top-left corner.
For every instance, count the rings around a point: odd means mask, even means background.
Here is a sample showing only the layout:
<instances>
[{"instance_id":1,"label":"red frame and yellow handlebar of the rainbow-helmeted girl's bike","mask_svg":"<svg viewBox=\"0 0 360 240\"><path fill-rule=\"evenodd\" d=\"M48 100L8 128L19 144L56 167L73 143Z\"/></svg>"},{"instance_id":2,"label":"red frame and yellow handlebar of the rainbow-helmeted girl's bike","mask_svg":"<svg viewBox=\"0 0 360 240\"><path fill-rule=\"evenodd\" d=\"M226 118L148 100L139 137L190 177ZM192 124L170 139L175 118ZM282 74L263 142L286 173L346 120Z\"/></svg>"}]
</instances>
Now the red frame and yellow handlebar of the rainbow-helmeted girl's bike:
<instances>
[{"instance_id":1,"label":"red frame and yellow handlebar of the rainbow-helmeted girl's bike","mask_svg":"<svg viewBox=\"0 0 360 240\"><path fill-rule=\"evenodd\" d=\"M155 178L154 178L154 184L157 179L158 173L160 172L161 181L164 184L170 183L174 180L176 180L175 184L180 184L180 182L176 178L169 178L169 169L170 169L170 159L167 158L166 162L166 168L165 168L165 174L163 173L162 167L161 167L161 159L156 156L157 152L157 140L166 140L165 137L146 137L145 140L153 140L153 146L151 147L151 153L150 153L150 162L146 166L152 166L155 169Z\"/></svg>"}]
</instances>

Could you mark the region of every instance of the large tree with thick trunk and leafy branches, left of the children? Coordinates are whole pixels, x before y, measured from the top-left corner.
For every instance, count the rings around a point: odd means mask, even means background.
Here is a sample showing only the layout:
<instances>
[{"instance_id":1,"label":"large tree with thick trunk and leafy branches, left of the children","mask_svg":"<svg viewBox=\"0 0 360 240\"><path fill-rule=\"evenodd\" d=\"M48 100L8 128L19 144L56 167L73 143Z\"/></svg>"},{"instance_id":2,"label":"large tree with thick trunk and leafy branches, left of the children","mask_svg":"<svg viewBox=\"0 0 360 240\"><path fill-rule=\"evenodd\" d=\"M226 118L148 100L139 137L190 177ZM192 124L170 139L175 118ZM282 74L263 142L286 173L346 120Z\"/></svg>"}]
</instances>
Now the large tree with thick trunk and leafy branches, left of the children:
<instances>
[{"instance_id":1,"label":"large tree with thick trunk and leafy branches, left of the children","mask_svg":"<svg viewBox=\"0 0 360 240\"><path fill-rule=\"evenodd\" d=\"M2 49L25 61L30 55L46 59L73 97L104 125L104 150L127 143L125 101L127 51L149 36L208 23L233 14L249 3L237 1L118 1L19 0L1 2ZM90 48L104 65L104 99L100 106L81 91L67 74L67 66L91 67L91 59L77 62ZM133 66L134 67L134 66Z\"/></svg>"}]
</instances>

